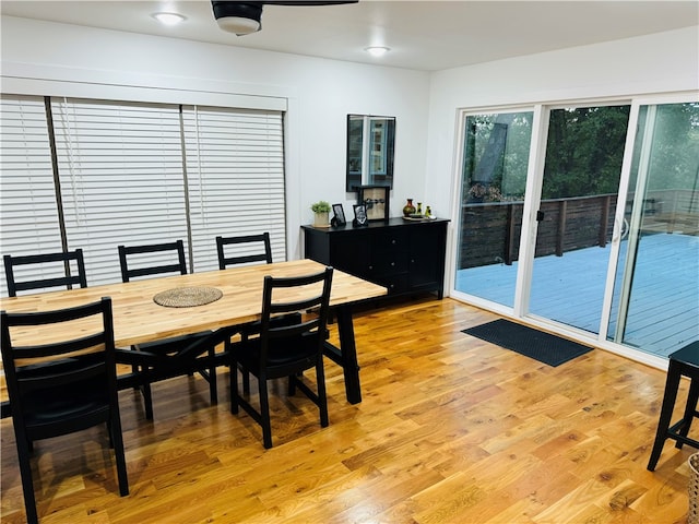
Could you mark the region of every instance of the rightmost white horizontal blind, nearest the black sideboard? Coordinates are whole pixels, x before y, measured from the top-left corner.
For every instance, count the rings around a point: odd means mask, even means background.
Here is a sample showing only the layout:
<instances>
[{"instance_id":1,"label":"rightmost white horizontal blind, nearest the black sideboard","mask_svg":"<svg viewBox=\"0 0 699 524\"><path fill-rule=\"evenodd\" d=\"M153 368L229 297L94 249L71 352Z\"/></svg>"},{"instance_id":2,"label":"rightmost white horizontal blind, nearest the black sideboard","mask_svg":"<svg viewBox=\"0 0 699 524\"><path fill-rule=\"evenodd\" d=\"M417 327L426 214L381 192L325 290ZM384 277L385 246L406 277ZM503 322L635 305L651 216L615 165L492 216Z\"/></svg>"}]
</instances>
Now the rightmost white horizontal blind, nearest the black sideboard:
<instances>
[{"instance_id":1,"label":"rightmost white horizontal blind, nearest the black sideboard","mask_svg":"<svg viewBox=\"0 0 699 524\"><path fill-rule=\"evenodd\" d=\"M218 235L269 231L286 260L282 114L190 106L182 121L194 270L218 267Z\"/></svg>"}]
</instances>

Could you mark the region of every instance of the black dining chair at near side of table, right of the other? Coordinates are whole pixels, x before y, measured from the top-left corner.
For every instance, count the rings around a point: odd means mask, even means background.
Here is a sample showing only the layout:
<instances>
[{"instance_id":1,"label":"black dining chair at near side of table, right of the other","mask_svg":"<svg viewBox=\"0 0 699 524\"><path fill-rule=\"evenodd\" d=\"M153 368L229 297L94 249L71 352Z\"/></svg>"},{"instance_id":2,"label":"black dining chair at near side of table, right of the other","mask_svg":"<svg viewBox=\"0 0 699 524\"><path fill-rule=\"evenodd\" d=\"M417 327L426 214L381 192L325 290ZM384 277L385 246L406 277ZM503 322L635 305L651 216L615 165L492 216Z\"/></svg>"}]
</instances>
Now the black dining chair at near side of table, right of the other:
<instances>
[{"instance_id":1,"label":"black dining chair at near side of table, right of the other","mask_svg":"<svg viewBox=\"0 0 699 524\"><path fill-rule=\"evenodd\" d=\"M230 373L230 412L241 406L262 427L264 448L272 448L272 429L268 381L288 378L288 393L303 391L320 409L320 425L327 427L328 400L323 369L325 324L330 309L332 267L306 276L264 277L260 336L228 343L230 369L240 366L258 379L259 410L238 392L238 373ZM299 312L300 322L274 325L279 314ZM305 382L303 372L316 369L313 392Z\"/></svg>"}]
</instances>

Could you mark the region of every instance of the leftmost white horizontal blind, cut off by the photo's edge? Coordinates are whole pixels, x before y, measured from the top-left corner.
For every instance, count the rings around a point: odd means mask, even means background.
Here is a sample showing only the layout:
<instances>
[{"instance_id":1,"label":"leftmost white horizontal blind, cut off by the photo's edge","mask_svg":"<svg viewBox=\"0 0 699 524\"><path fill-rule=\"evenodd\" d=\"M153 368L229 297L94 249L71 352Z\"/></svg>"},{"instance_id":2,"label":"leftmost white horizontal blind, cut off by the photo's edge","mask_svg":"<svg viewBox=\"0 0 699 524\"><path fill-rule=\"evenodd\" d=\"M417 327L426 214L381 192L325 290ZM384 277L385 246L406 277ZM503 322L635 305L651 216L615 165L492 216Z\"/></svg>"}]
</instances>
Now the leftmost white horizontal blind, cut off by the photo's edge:
<instances>
[{"instance_id":1,"label":"leftmost white horizontal blind, cut off by the photo's edge","mask_svg":"<svg viewBox=\"0 0 699 524\"><path fill-rule=\"evenodd\" d=\"M2 254L62 251L44 98L0 98L0 243ZM17 269L17 281L60 276L46 267ZM4 264L0 294L8 296Z\"/></svg>"}]
</instances>

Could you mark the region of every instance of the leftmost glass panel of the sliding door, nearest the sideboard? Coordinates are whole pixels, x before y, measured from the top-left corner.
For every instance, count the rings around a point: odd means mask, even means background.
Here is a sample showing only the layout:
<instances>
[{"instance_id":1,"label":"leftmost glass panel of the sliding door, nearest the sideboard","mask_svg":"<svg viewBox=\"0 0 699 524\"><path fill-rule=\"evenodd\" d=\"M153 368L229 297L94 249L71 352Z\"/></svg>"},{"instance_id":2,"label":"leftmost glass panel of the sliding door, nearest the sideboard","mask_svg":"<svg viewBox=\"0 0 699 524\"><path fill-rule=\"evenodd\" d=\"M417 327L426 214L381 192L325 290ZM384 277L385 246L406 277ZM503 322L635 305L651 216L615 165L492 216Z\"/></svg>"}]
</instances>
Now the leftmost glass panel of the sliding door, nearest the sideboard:
<instances>
[{"instance_id":1,"label":"leftmost glass panel of the sliding door, nearest the sideboard","mask_svg":"<svg viewBox=\"0 0 699 524\"><path fill-rule=\"evenodd\" d=\"M513 307L533 111L464 120L454 289Z\"/></svg>"}]
</instances>

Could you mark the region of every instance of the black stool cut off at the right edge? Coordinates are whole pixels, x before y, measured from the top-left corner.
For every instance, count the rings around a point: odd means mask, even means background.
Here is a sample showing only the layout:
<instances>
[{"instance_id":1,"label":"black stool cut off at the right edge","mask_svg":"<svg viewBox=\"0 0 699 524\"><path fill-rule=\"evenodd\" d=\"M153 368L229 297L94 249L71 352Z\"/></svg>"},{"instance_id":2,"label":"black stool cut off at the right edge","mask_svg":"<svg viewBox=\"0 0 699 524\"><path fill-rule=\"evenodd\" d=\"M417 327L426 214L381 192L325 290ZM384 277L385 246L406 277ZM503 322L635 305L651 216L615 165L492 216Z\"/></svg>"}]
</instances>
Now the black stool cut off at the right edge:
<instances>
[{"instance_id":1,"label":"black stool cut off at the right edge","mask_svg":"<svg viewBox=\"0 0 699 524\"><path fill-rule=\"evenodd\" d=\"M689 377L689 394L687 395L687 405L682 419L670 425L675 400L677 398L677 390L679 389L679 379ZM657 431L655 433L655 442L653 451L648 461L648 471L655 469L657 458L663 451L663 444L666 439L676 440L675 448L680 449L683 444L689 444L699 449L699 442L687 437L689 427L695 417L699 416L697 412L697 400L699 398L699 341L692 342L688 346L676 350L670 356L670 366L667 368L667 380L665 382L665 395L663 397L663 407L660 412L660 420L657 421Z\"/></svg>"}]
</instances>

